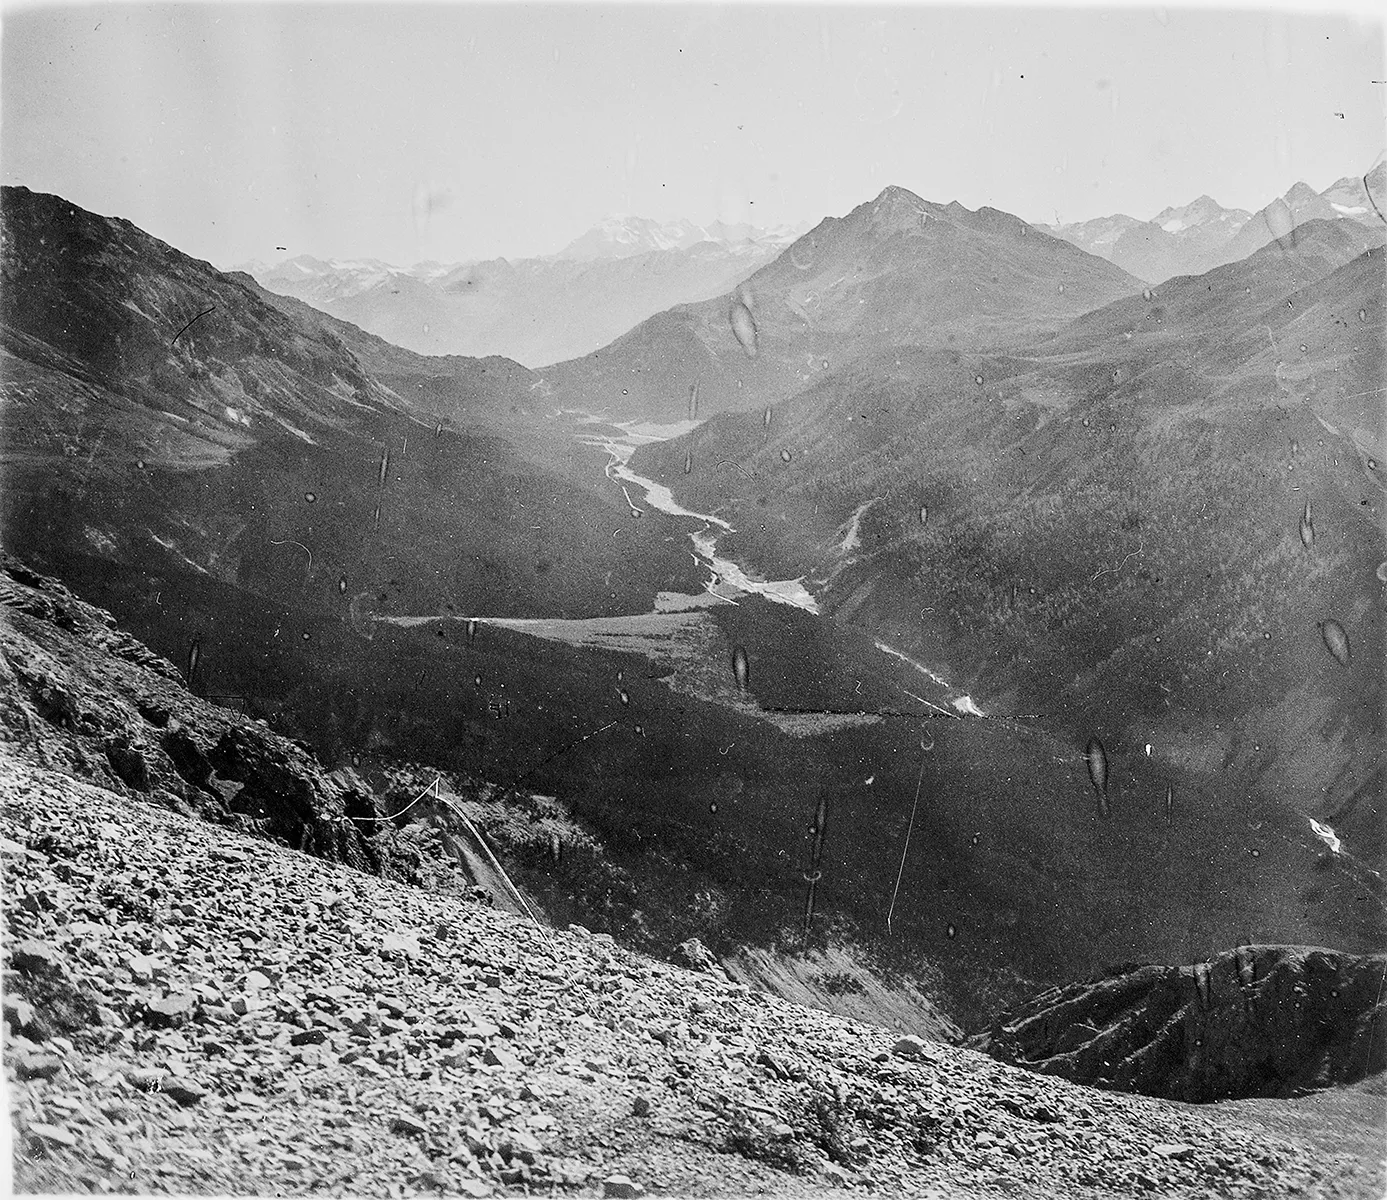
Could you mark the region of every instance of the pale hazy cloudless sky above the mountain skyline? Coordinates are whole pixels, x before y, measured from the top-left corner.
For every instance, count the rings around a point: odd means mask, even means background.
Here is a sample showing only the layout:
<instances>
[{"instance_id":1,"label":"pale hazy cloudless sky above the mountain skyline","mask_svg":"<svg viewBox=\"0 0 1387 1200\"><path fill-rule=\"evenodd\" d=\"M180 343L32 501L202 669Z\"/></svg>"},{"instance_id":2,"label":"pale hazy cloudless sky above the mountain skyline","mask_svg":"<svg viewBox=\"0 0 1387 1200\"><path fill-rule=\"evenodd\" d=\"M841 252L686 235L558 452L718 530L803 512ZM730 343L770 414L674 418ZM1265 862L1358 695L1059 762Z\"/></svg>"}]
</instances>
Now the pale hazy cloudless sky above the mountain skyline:
<instances>
[{"instance_id":1,"label":"pale hazy cloudless sky above the mountain skyline","mask_svg":"<svg viewBox=\"0 0 1387 1200\"><path fill-rule=\"evenodd\" d=\"M10 6L0 171L218 266L817 222L888 183L1031 221L1257 209L1381 153L1366 11Z\"/></svg>"}]
</instances>

